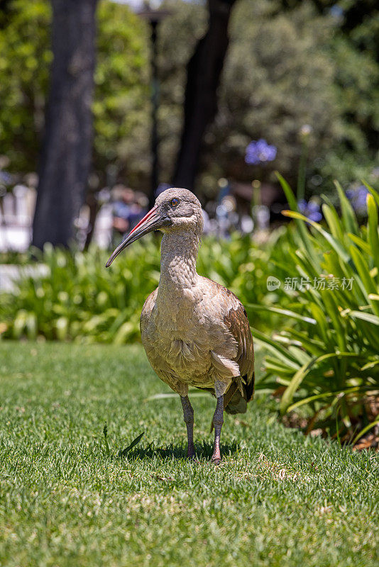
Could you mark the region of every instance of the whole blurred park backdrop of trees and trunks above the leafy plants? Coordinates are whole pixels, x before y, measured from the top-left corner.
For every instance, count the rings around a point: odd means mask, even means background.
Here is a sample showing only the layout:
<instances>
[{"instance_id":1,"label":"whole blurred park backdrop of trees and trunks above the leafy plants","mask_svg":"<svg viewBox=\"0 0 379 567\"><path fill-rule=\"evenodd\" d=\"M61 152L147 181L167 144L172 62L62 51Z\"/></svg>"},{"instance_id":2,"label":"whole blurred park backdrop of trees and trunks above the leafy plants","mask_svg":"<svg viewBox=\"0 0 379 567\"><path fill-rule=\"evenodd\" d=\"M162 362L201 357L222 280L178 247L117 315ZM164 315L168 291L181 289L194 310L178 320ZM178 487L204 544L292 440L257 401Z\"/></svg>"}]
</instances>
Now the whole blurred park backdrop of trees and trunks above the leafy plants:
<instances>
[{"instance_id":1,"label":"whole blurred park backdrop of trees and trunks above the leafy plants","mask_svg":"<svg viewBox=\"0 0 379 567\"><path fill-rule=\"evenodd\" d=\"M1 0L0 101L2 252L110 247L169 186L199 196L206 232L265 230L275 170L314 220L334 179L364 215L378 6Z\"/></svg>"}]
</instances>

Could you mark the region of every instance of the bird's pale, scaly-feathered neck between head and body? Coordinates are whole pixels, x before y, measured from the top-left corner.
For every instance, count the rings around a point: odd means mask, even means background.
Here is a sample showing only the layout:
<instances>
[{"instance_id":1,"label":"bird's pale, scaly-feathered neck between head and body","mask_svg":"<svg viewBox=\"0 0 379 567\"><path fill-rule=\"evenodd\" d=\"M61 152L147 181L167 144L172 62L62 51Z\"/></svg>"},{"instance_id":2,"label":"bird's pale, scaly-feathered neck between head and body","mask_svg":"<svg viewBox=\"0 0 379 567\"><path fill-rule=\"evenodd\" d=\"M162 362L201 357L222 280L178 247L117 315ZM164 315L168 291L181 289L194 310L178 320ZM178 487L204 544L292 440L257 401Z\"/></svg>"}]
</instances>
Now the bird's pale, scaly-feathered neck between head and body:
<instances>
[{"instance_id":1,"label":"bird's pale, scaly-feathered neck between head and body","mask_svg":"<svg viewBox=\"0 0 379 567\"><path fill-rule=\"evenodd\" d=\"M163 235L160 247L158 296L178 296L197 283L197 252L200 235L192 230L177 230Z\"/></svg>"}]
</instances>

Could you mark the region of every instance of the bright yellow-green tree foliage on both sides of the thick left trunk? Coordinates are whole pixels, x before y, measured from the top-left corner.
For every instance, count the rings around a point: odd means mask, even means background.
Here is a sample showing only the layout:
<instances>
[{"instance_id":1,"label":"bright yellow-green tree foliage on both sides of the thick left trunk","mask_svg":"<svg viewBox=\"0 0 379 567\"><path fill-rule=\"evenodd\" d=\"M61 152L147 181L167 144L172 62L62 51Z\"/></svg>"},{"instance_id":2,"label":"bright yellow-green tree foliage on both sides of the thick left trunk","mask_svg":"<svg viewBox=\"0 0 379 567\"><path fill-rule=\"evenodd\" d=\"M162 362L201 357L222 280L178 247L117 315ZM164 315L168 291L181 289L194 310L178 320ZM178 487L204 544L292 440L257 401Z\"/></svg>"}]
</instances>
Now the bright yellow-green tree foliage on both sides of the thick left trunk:
<instances>
[{"instance_id":1,"label":"bright yellow-green tree foliage on both sides of the thick left trunk","mask_svg":"<svg viewBox=\"0 0 379 567\"><path fill-rule=\"evenodd\" d=\"M99 3L97 18L94 170L104 182L109 164L123 174L131 174L128 160L149 167L141 157L148 150L148 30L128 6L111 1ZM11 0L6 26L0 26L0 147L12 172L37 167L52 60L50 21L48 0Z\"/></svg>"}]
</instances>

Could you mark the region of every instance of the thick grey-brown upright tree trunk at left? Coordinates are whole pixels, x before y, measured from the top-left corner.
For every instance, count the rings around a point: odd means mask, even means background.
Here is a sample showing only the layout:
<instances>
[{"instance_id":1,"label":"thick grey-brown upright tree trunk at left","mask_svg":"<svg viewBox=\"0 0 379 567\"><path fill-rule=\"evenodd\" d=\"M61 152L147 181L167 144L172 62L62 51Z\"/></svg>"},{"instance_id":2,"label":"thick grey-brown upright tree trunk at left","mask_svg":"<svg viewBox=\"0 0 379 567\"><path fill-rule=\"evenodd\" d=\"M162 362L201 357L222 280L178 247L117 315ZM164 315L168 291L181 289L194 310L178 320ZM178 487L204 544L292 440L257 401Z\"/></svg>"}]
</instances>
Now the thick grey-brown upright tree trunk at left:
<instances>
[{"instance_id":1,"label":"thick grey-brown upright tree trunk at left","mask_svg":"<svg viewBox=\"0 0 379 567\"><path fill-rule=\"evenodd\" d=\"M97 0L52 0L53 64L40 156L33 245L68 247L92 154Z\"/></svg>"}]
</instances>

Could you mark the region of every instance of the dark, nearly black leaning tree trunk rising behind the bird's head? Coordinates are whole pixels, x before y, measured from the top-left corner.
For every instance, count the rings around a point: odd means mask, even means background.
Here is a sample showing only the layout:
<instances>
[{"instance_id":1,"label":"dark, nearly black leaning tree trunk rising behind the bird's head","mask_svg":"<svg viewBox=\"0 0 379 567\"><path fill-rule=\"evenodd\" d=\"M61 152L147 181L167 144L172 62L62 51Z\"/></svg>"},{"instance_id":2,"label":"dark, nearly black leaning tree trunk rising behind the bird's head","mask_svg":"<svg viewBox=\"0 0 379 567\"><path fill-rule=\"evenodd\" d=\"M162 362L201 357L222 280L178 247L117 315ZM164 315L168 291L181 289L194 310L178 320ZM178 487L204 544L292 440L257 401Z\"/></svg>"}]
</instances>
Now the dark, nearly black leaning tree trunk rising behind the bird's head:
<instances>
[{"instance_id":1,"label":"dark, nearly black leaning tree trunk rising behind the bird's head","mask_svg":"<svg viewBox=\"0 0 379 567\"><path fill-rule=\"evenodd\" d=\"M185 123L173 184L193 189L204 133L216 116L217 88L229 45L228 24L236 0L208 0L209 26L187 65Z\"/></svg>"}]
</instances>

